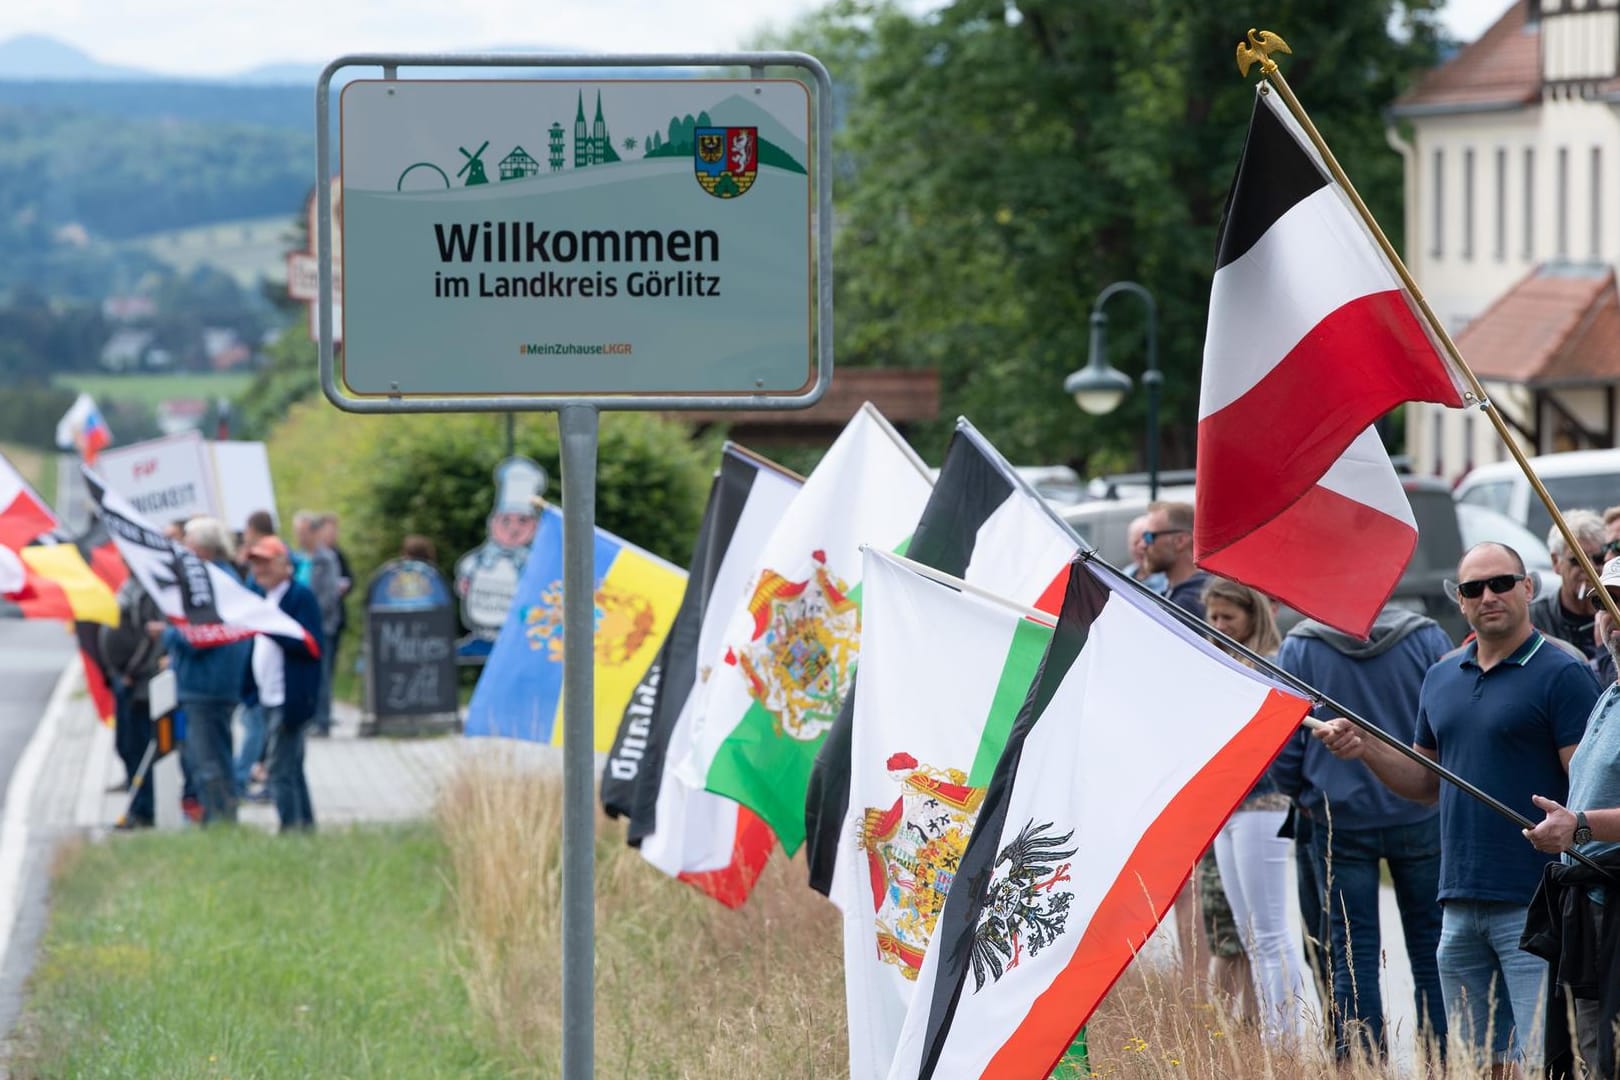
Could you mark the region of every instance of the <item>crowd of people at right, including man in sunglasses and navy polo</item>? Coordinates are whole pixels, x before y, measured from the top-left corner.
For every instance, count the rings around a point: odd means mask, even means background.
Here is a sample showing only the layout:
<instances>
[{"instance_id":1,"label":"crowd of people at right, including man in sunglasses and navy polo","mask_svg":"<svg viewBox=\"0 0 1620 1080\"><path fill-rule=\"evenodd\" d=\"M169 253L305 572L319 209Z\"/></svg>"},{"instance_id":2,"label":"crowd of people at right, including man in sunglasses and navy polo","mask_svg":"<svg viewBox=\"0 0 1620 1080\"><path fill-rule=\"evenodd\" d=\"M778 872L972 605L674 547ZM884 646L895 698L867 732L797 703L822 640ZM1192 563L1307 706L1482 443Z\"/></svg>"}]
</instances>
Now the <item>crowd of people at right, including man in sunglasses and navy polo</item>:
<instances>
[{"instance_id":1,"label":"crowd of people at right, including man in sunglasses and navy polo","mask_svg":"<svg viewBox=\"0 0 1620 1080\"><path fill-rule=\"evenodd\" d=\"M1131 525L1131 576L1356 719L1319 706L1215 837L1176 902L1187 989L1223 994L1270 1044L1325 1030L1343 1061L1385 1056L1387 871L1421 1046L1502 1077L1617 1075L1620 920L1604 902L1620 866L1620 627L1562 533L1557 589L1505 544L1463 554L1461 643L1396 606L1362 640L1311 619L1280 635L1273 601L1194 565L1192 515L1152 504ZM1565 518L1620 597L1620 507Z\"/></svg>"}]
</instances>

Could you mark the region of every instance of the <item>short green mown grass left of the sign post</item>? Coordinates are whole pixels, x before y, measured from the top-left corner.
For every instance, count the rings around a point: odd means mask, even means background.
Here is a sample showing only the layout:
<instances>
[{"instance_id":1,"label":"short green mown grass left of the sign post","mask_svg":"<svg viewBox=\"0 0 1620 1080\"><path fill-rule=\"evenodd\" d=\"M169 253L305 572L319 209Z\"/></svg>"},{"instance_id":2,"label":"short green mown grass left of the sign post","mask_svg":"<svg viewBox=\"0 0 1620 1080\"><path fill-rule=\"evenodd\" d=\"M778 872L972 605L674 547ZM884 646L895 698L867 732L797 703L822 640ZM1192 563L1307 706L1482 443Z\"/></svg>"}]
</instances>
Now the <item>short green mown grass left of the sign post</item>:
<instances>
[{"instance_id":1,"label":"short green mown grass left of the sign post","mask_svg":"<svg viewBox=\"0 0 1620 1080\"><path fill-rule=\"evenodd\" d=\"M505 1075L450 957L431 826L70 850L15 1077Z\"/></svg>"}]
</instances>

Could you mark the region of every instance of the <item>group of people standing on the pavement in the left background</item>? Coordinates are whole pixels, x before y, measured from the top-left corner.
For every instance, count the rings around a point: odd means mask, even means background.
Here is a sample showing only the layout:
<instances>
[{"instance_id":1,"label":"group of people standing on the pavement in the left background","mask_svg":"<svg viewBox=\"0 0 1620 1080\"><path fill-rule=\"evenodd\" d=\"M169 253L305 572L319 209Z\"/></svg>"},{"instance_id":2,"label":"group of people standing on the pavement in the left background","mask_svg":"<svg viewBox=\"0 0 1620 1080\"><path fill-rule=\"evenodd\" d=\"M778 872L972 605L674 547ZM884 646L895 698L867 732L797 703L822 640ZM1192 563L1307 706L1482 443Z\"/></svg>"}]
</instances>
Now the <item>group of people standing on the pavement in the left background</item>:
<instances>
[{"instance_id":1,"label":"group of people standing on the pavement in the left background","mask_svg":"<svg viewBox=\"0 0 1620 1080\"><path fill-rule=\"evenodd\" d=\"M352 585L337 529L337 515L305 510L293 517L292 547L267 510L253 513L240 538L211 517L173 521L165 529L172 541L277 604L316 648L271 635L198 648L162 617L133 575L120 588L118 625L100 633L117 704L117 748L128 774L122 787L131 790L118 829L151 827L156 819L149 683L165 667L175 675L185 714L185 816L199 824L235 821L237 805L254 800L275 805L284 831L314 827L305 740L332 729L332 672ZM238 727L240 743L233 738Z\"/></svg>"}]
</instances>

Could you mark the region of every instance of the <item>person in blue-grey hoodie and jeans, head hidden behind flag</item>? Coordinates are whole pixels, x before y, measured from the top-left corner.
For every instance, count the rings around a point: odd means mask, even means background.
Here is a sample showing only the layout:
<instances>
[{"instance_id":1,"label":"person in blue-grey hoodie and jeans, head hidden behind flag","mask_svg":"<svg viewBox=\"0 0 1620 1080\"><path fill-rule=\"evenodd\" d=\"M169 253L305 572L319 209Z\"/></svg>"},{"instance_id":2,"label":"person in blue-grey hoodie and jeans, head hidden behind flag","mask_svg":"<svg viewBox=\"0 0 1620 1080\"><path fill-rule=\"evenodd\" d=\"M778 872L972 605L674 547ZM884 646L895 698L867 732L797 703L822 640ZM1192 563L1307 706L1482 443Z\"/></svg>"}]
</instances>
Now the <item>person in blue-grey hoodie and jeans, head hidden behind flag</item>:
<instances>
[{"instance_id":1,"label":"person in blue-grey hoodie and jeans, head hidden behind flag","mask_svg":"<svg viewBox=\"0 0 1620 1080\"><path fill-rule=\"evenodd\" d=\"M1283 640L1277 662L1408 745L1424 675L1452 648L1432 619L1385 607L1366 641L1307 619ZM1332 716L1322 709L1319 714ZM1301 832L1309 837L1302 844L1309 845L1306 865L1315 879L1307 881L1301 873L1301 908L1322 910L1338 1056L1388 1052L1379 993L1380 863L1388 863L1395 884L1418 1017L1427 1020L1435 1043L1443 1046L1447 1025L1435 960L1439 808L1395 795L1364 763L1340 761L1304 729L1283 746L1270 777L1294 797Z\"/></svg>"}]
</instances>

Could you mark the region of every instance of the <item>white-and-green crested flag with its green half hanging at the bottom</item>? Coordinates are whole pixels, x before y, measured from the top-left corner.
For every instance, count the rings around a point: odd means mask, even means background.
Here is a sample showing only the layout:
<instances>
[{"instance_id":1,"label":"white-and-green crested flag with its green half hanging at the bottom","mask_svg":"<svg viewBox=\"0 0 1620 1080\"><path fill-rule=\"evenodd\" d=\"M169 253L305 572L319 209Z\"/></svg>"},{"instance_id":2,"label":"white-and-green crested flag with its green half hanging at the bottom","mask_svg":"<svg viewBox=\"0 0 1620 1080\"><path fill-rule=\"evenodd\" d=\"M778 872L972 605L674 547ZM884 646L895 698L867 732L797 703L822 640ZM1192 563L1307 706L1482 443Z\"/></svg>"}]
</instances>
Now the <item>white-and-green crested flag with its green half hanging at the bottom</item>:
<instances>
[{"instance_id":1,"label":"white-and-green crested flag with its green half hanging at the bottom","mask_svg":"<svg viewBox=\"0 0 1620 1080\"><path fill-rule=\"evenodd\" d=\"M771 531L721 641L682 772L748 806L787 853L805 836L815 753L860 653L860 547L899 547L932 481L870 403Z\"/></svg>"}]
</instances>

